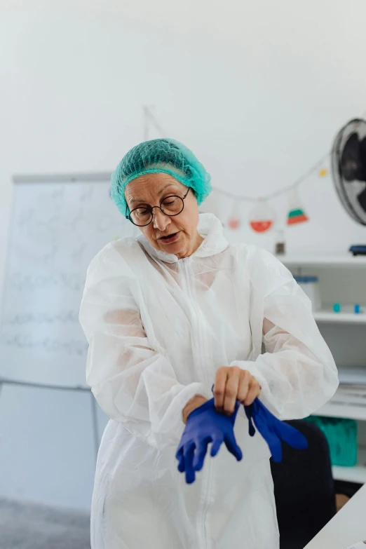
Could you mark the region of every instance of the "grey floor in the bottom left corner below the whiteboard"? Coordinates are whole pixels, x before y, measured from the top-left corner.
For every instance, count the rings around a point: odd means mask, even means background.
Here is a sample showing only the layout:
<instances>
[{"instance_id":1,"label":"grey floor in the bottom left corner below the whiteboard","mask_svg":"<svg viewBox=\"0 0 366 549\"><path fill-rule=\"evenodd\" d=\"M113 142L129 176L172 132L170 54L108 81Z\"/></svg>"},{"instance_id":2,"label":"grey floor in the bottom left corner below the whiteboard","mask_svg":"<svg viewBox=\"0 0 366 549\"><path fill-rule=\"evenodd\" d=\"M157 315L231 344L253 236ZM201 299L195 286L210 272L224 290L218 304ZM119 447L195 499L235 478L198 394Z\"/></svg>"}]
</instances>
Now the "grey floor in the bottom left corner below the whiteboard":
<instances>
[{"instance_id":1,"label":"grey floor in the bottom left corner below the whiteboard","mask_svg":"<svg viewBox=\"0 0 366 549\"><path fill-rule=\"evenodd\" d=\"M90 549L90 518L0 499L0 549Z\"/></svg>"}]
</instances>

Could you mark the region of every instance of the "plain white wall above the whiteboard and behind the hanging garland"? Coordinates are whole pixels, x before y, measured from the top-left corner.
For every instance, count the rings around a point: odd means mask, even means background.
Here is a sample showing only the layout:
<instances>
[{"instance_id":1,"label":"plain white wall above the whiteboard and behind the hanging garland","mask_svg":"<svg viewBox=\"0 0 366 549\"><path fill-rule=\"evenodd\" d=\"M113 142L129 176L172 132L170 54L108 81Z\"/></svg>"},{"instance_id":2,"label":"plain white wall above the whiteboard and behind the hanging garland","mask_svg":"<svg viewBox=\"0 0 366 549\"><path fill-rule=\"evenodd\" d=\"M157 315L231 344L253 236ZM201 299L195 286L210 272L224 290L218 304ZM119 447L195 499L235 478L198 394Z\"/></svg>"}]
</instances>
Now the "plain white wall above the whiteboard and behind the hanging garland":
<instances>
[{"instance_id":1,"label":"plain white wall above the whiteboard and behind the hanging garland","mask_svg":"<svg viewBox=\"0 0 366 549\"><path fill-rule=\"evenodd\" d=\"M111 170L142 140L142 104L215 186L292 182L366 110L365 19L363 0L2 1L0 284L11 175ZM329 177L300 190L311 222L287 230L290 252L366 242ZM284 219L286 199L272 205ZM275 236L231 234L270 250Z\"/></svg>"}]
</instances>

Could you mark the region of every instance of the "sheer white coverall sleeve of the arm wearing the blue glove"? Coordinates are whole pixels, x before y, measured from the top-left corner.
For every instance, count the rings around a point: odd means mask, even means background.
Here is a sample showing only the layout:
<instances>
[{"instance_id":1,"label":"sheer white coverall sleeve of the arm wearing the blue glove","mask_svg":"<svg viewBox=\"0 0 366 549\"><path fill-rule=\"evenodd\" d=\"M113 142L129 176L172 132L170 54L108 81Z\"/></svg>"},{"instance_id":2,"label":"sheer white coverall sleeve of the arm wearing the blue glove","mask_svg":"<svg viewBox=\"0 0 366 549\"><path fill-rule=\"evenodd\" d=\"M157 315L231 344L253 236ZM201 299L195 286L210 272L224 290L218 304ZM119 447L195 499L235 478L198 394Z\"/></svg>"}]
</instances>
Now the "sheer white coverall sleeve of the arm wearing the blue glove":
<instances>
[{"instance_id":1,"label":"sheer white coverall sleeve of the arm wearing the blue glove","mask_svg":"<svg viewBox=\"0 0 366 549\"><path fill-rule=\"evenodd\" d=\"M160 449L176 446L182 409L205 389L178 383L164 349L147 337L137 300L132 271L116 250L104 249L89 266L79 316L89 344L86 381L107 416L130 433Z\"/></svg>"}]
</instances>

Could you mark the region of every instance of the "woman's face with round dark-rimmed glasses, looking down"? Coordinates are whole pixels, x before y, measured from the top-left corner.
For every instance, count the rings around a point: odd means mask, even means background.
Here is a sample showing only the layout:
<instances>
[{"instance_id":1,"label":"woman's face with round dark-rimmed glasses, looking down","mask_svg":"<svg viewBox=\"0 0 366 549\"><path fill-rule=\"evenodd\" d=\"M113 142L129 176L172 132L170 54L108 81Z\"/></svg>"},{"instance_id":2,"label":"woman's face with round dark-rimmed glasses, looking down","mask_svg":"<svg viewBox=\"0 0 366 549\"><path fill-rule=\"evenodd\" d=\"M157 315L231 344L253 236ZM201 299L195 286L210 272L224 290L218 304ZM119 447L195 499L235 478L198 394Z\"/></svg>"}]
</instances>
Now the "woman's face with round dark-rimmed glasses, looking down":
<instances>
[{"instance_id":1,"label":"woman's face with round dark-rimmed glasses, looking down","mask_svg":"<svg viewBox=\"0 0 366 549\"><path fill-rule=\"evenodd\" d=\"M187 194L188 187L167 173L151 173L140 175L133 179L125 189L125 198L130 212L135 208L147 205L158 206L168 196ZM139 227L156 250L174 254L179 259L193 254L203 238L198 234L198 205L193 191L190 189L184 198L184 208L174 217L163 214L159 208L154 208L151 223ZM170 236L170 238L164 238Z\"/></svg>"}]
</instances>

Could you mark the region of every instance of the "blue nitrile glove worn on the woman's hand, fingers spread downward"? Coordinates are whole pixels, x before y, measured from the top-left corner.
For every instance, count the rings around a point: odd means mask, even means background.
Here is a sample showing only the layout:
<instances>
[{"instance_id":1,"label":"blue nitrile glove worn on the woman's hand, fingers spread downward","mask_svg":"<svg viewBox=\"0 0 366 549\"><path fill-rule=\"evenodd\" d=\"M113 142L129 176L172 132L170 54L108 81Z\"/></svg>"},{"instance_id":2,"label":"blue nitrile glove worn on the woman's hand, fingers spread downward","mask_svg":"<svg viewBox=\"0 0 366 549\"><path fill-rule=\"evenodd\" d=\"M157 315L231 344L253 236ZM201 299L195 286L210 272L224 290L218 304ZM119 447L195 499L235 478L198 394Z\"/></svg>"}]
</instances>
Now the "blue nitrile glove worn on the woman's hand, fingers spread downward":
<instances>
[{"instance_id":1,"label":"blue nitrile glove worn on the woman's hand, fingers spread downward","mask_svg":"<svg viewBox=\"0 0 366 549\"><path fill-rule=\"evenodd\" d=\"M203 468L203 461L208 445L212 442L211 456L216 456L222 442L238 461L243 454L236 444L233 426L238 413L239 402L231 416L224 416L216 411L214 399L211 398L202 406L194 409L187 419L186 428L180 439L177 454L178 470L186 473L186 482L191 484L196 479L196 471Z\"/></svg>"}]
</instances>

